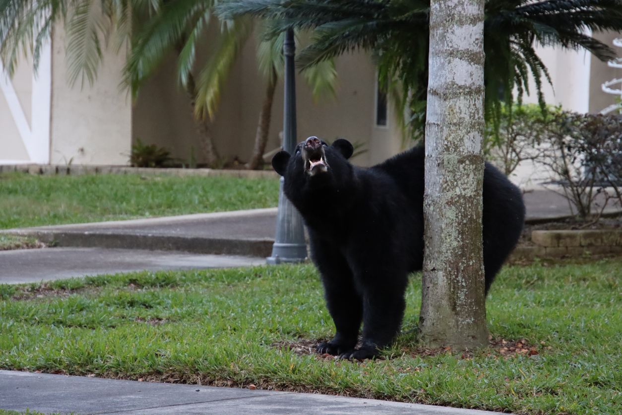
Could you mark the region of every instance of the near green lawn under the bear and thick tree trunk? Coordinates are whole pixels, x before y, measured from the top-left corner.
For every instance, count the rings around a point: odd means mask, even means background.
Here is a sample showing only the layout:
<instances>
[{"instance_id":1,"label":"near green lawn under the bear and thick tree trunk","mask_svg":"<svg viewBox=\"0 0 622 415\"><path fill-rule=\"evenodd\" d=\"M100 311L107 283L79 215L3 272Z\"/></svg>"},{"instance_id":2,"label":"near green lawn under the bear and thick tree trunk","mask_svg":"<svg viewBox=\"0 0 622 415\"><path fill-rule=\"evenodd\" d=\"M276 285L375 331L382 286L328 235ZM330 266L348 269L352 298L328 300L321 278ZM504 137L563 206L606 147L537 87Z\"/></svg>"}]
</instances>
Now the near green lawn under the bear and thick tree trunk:
<instances>
[{"instance_id":1,"label":"near green lawn under the bear and thick tree trunk","mask_svg":"<svg viewBox=\"0 0 622 415\"><path fill-rule=\"evenodd\" d=\"M495 346L473 353L417 343L415 274L406 334L383 359L363 362L309 352L333 332L310 264L4 285L0 368L521 414L620 414L621 265L503 268L487 303ZM518 340L538 354L512 352Z\"/></svg>"}]
</instances>

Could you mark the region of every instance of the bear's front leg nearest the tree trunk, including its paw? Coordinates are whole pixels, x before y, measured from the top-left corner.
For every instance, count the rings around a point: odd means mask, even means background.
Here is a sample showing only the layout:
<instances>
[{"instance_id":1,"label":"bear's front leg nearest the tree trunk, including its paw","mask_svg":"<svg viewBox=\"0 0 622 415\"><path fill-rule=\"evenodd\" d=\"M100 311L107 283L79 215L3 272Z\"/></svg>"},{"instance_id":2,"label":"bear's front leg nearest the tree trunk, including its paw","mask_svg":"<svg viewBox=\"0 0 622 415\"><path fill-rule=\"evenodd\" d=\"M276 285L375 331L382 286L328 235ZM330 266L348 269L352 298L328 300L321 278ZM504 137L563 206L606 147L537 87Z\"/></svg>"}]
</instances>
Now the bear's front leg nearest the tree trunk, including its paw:
<instances>
[{"instance_id":1,"label":"bear's front leg nearest the tree trunk, including its paw","mask_svg":"<svg viewBox=\"0 0 622 415\"><path fill-rule=\"evenodd\" d=\"M343 353L346 359L371 359L379 349L391 344L404 317L404 292L408 283L405 271L392 271L361 276L363 286L363 344L360 348Z\"/></svg>"}]
</instances>

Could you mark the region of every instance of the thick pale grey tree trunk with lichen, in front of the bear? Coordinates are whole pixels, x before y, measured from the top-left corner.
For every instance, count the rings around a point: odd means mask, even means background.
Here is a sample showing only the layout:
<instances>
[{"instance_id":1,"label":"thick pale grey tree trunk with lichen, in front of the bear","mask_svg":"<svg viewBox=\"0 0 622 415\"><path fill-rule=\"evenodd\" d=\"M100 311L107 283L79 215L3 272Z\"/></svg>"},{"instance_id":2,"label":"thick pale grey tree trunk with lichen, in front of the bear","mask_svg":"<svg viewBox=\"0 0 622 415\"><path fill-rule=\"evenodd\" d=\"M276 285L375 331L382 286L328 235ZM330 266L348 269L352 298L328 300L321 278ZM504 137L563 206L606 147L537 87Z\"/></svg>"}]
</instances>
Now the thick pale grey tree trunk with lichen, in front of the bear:
<instances>
[{"instance_id":1,"label":"thick pale grey tree trunk with lichen, in front of the bear","mask_svg":"<svg viewBox=\"0 0 622 415\"><path fill-rule=\"evenodd\" d=\"M432 347L488 342L482 259L483 0L432 0L419 330Z\"/></svg>"}]
</instances>

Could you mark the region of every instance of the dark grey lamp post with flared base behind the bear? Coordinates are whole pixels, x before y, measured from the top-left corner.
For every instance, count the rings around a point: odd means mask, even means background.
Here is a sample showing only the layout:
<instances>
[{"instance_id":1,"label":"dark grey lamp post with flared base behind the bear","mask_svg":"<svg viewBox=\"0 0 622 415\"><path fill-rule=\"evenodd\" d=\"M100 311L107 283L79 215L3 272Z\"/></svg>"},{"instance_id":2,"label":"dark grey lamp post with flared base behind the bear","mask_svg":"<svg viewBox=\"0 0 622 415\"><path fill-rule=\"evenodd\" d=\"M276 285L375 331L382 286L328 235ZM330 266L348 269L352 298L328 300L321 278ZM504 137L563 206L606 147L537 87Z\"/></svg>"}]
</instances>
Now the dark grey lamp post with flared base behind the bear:
<instances>
[{"instance_id":1,"label":"dark grey lamp post with flared base behind the bear","mask_svg":"<svg viewBox=\"0 0 622 415\"><path fill-rule=\"evenodd\" d=\"M285 55L285 108L283 114L283 149L294 154L296 139L296 85L294 80L294 30L285 32L283 54ZM296 263L307 257L307 244L302 226L302 217L292 202L283 194L283 182L279 187L279 213L277 214L276 235L272 245L272 255L268 264L281 262Z\"/></svg>"}]
</instances>

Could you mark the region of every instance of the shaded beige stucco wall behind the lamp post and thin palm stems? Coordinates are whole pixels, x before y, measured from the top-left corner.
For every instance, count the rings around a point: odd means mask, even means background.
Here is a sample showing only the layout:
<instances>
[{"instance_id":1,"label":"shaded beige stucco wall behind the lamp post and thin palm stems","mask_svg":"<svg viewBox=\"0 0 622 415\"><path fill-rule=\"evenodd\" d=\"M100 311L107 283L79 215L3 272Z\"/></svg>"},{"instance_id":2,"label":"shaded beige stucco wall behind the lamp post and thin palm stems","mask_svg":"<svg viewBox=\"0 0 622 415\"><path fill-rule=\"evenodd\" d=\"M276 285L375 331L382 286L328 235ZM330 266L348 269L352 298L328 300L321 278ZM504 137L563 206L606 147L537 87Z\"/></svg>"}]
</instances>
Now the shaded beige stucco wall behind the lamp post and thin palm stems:
<instances>
[{"instance_id":1,"label":"shaded beige stucco wall behind the lamp post and thin palm stems","mask_svg":"<svg viewBox=\"0 0 622 415\"><path fill-rule=\"evenodd\" d=\"M203 56L199 53L197 62L205 62L203 58L209 54L209 42L203 50ZM315 135L329 141L345 138L351 142L364 142L363 148L368 151L354 160L364 166L396 154L401 136L395 134L391 127L394 124L392 119L389 118L389 128L374 127L376 68L371 58L364 54L343 55L337 59L337 72L337 99L325 99L318 105L313 104L311 91L304 79L297 76L298 140ZM233 68L221 94L220 108L211 124L211 136L220 156L248 161L265 90L266 80L258 73L256 41L251 38ZM282 125L283 85L280 82L272 104L266 151L279 146ZM167 147L174 157L183 160L188 160L193 147L198 161L203 161L188 97L177 82L174 56L141 90L134 105L132 138Z\"/></svg>"}]
</instances>

